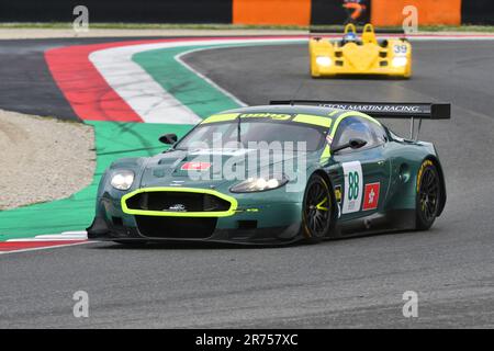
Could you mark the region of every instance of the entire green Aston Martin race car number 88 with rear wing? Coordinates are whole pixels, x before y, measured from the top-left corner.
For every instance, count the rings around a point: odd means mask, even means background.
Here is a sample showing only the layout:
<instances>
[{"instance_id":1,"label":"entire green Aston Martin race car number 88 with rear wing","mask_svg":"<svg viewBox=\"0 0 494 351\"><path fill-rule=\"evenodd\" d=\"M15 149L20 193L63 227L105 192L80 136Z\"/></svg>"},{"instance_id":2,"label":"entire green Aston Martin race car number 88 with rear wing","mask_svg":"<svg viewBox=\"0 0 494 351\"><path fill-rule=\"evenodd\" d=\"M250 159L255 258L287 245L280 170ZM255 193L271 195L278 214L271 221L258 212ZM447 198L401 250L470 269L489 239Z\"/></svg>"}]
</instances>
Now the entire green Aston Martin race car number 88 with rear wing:
<instances>
[{"instance_id":1,"label":"entire green Aston Martin race car number 88 with rear wing","mask_svg":"<svg viewBox=\"0 0 494 351\"><path fill-rule=\"evenodd\" d=\"M409 118L409 139L375 118ZM428 229L446 203L433 144L414 120L449 104L278 101L212 115L148 158L114 161L88 237L122 244L312 242ZM417 132L418 134L418 132Z\"/></svg>"}]
</instances>

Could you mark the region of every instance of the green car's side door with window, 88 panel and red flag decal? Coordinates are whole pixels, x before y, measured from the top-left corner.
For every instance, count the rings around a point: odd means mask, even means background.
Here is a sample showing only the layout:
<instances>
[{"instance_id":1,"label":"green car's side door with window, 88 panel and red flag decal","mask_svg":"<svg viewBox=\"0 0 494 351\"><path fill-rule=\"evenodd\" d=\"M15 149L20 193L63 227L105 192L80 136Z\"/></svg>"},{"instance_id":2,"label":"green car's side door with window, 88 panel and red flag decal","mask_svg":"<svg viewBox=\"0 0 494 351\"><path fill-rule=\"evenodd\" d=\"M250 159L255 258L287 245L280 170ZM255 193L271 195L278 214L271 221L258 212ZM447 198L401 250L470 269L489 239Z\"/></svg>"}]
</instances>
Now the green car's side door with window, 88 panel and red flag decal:
<instances>
[{"instance_id":1,"label":"green car's side door with window, 88 panel and red flag decal","mask_svg":"<svg viewBox=\"0 0 494 351\"><path fill-rule=\"evenodd\" d=\"M339 192L341 220L383 210L390 182L391 165L384 155L386 134L379 122L357 115L346 117L337 126L332 148L352 138L363 139L367 144L359 149L346 148L333 155L337 165L335 188Z\"/></svg>"}]
</instances>

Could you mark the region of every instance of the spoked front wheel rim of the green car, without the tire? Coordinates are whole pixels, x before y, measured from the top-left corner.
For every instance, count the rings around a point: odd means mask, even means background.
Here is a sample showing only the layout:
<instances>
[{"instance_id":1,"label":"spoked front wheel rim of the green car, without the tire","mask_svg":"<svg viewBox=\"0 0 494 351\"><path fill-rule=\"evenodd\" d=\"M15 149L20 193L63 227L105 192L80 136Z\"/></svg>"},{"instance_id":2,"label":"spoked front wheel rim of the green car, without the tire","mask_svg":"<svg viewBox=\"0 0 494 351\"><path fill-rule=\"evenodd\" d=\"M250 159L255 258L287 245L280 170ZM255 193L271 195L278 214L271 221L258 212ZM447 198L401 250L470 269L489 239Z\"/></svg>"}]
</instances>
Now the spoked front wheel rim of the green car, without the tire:
<instances>
[{"instance_id":1,"label":"spoked front wheel rim of the green car, without the tire","mask_svg":"<svg viewBox=\"0 0 494 351\"><path fill-rule=\"evenodd\" d=\"M307 190L304 204L305 225L311 235L326 235L330 222L330 197L326 184L314 182Z\"/></svg>"}]
</instances>

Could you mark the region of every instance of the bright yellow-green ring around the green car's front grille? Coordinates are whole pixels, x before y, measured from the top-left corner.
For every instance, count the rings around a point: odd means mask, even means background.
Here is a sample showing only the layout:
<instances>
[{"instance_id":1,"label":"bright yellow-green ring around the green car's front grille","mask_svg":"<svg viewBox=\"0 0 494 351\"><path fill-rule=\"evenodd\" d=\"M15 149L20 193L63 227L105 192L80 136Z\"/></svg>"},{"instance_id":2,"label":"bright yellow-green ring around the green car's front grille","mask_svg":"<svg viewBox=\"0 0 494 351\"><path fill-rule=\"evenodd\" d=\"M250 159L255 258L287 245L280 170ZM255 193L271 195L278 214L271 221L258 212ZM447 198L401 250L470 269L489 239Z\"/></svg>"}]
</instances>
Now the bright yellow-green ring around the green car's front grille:
<instances>
[{"instance_id":1,"label":"bright yellow-green ring around the green car's front grille","mask_svg":"<svg viewBox=\"0 0 494 351\"><path fill-rule=\"evenodd\" d=\"M126 201L128 199L137 194L147 192L186 192L186 193L210 194L229 202L231 206L228 211L214 211L214 212L146 211L146 210L132 210L127 207ZM121 200L121 205L122 211L128 215L161 216L161 217L228 217L235 214L238 207L238 202L235 197L225 195L221 192L211 189L157 186L157 188L137 189L133 192L130 192L128 194L123 195Z\"/></svg>"}]
</instances>

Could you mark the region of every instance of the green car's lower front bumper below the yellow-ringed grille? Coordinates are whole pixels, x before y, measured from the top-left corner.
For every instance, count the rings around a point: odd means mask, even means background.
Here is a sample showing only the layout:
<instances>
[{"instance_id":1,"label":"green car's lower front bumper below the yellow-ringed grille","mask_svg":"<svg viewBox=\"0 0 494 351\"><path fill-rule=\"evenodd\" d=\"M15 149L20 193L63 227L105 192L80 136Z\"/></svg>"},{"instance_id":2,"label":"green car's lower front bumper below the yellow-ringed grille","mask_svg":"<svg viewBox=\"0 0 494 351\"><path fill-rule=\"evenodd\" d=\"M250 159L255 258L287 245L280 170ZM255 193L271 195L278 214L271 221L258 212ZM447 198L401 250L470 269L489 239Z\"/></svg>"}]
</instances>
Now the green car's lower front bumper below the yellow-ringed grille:
<instances>
[{"instance_id":1,"label":"green car's lower front bumper below the yellow-ringed grille","mask_svg":"<svg viewBox=\"0 0 494 351\"><path fill-rule=\"evenodd\" d=\"M302 238L300 203L266 204L265 200L262 204L256 205L252 196L239 196L237 201L235 211L227 216L188 217L187 213L181 213L179 217L175 217L125 213L122 211L121 199L105 194L98 202L97 216L87 229L88 238L112 241L215 241L258 245L290 244Z\"/></svg>"}]
</instances>

